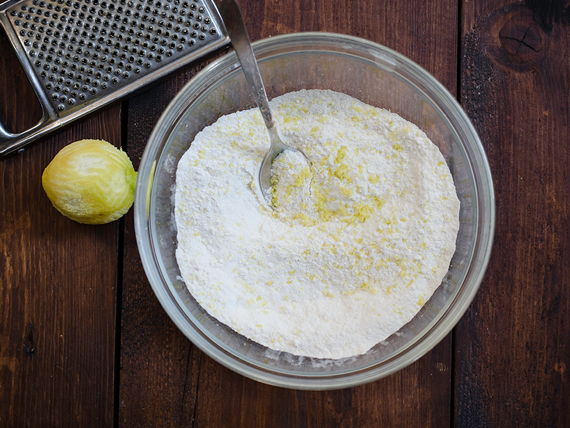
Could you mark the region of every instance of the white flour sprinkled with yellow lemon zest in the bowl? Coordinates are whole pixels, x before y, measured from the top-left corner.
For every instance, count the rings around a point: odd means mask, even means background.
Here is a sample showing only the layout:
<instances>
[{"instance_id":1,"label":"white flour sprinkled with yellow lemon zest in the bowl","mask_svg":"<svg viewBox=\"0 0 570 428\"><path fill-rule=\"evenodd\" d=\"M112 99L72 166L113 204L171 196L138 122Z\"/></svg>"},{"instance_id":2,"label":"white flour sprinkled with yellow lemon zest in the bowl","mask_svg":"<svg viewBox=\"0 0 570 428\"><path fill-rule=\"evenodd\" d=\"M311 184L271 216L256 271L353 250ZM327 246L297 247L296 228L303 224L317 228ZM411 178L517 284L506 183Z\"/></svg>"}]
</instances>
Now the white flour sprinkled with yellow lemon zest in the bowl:
<instances>
[{"instance_id":1,"label":"white flour sprinkled with yellow lemon zest in the bowl","mask_svg":"<svg viewBox=\"0 0 570 428\"><path fill-rule=\"evenodd\" d=\"M269 147L257 109L221 117L180 160L176 257L196 300L269 348L365 353L410 321L455 251L459 200L415 125L331 91L271 102L285 152L274 212L256 174Z\"/></svg>"}]
</instances>

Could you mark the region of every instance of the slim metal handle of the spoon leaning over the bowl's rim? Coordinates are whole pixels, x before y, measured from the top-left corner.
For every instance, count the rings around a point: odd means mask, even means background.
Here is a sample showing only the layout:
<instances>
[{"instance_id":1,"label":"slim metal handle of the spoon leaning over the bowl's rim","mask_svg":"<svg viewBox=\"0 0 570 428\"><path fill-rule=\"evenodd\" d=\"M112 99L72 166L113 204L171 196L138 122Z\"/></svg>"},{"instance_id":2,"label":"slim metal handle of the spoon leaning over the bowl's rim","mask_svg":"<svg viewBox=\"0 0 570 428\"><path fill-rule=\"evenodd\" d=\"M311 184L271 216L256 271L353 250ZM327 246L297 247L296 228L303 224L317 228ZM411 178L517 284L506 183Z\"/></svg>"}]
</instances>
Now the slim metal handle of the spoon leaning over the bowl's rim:
<instances>
[{"instance_id":1,"label":"slim metal handle of the spoon leaning over the bowl's rim","mask_svg":"<svg viewBox=\"0 0 570 428\"><path fill-rule=\"evenodd\" d=\"M239 6L235 0L217 0L216 5L220 15L222 16L222 20L224 21L224 25L226 26L226 30L228 31L230 40L232 41L232 45L236 51L247 82L249 83L249 87L252 90L255 102L261 111L261 116L265 121L265 126L267 126L269 140L273 145L274 142L278 142L280 139L277 134L275 123L273 122L273 116L269 109L265 87L261 80L261 74L259 74L257 61L253 55L253 50L251 49L251 43L249 41L249 36L241 16Z\"/></svg>"}]
</instances>

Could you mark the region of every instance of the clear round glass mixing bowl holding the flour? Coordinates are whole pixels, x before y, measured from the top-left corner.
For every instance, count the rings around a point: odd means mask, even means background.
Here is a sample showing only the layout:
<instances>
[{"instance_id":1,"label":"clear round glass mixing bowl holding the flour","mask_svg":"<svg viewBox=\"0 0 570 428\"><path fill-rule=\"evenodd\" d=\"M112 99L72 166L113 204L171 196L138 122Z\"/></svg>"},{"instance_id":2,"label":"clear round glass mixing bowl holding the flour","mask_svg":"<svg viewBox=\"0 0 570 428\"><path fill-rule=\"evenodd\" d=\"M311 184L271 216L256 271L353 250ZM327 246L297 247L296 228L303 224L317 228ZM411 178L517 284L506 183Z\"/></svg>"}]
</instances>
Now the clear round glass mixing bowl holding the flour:
<instances>
[{"instance_id":1,"label":"clear round glass mixing bowl holding the flour","mask_svg":"<svg viewBox=\"0 0 570 428\"><path fill-rule=\"evenodd\" d=\"M235 53L211 63L170 103L141 160L135 198L137 243L156 296L178 328L224 366L286 388L336 389L387 376L414 362L459 321L481 283L493 240L493 184L481 142L453 96L402 55L366 40L298 33L253 44L269 99L331 89L398 113L440 148L461 201L457 249L443 283L408 324L364 355L298 357L261 346L211 317L180 278L173 189L178 160L220 116L255 107ZM204 189L208 191L208 189Z\"/></svg>"}]
</instances>

